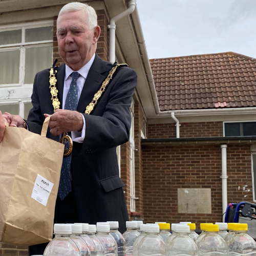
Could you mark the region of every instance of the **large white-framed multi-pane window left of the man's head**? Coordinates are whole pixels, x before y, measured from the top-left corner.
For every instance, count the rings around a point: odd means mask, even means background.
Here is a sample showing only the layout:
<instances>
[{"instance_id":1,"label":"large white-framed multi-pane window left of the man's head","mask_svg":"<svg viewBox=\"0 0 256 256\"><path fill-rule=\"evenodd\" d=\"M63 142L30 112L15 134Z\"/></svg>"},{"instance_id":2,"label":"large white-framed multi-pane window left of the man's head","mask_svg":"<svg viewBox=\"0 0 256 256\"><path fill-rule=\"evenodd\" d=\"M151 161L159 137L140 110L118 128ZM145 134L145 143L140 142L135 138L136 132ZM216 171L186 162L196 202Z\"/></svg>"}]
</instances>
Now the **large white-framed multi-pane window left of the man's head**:
<instances>
[{"instance_id":1,"label":"large white-framed multi-pane window left of the man's head","mask_svg":"<svg viewBox=\"0 0 256 256\"><path fill-rule=\"evenodd\" d=\"M0 87L32 84L52 55L52 21L0 26Z\"/></svg>"}]
</instances>

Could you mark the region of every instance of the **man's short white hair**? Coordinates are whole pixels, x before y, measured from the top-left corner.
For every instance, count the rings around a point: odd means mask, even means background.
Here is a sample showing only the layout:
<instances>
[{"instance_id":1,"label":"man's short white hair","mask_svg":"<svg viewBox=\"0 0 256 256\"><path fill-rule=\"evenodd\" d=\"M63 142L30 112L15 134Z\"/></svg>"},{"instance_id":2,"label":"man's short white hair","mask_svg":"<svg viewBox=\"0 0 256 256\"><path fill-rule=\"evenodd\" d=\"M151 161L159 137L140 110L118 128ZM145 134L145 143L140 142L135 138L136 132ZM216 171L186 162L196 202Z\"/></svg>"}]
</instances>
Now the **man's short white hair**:
<instances>
[{"instance_id":1,"label":"man's short white hair","mask_svg":"<svg viewBox=\"0 0 256 256\"><path fill-rule=\"evenodd\" d=\"M59 11L59 16L61 16L63 13L75 12L80 10L83 10L84 14L86 14L84 15L84 21L86 22L86 24L89 26L90 29L94 29L97 26L97 14L95 10L88 4L83 4L79 2L69 3L61 8L61 10Z\"/></svg>"}]
</instances>

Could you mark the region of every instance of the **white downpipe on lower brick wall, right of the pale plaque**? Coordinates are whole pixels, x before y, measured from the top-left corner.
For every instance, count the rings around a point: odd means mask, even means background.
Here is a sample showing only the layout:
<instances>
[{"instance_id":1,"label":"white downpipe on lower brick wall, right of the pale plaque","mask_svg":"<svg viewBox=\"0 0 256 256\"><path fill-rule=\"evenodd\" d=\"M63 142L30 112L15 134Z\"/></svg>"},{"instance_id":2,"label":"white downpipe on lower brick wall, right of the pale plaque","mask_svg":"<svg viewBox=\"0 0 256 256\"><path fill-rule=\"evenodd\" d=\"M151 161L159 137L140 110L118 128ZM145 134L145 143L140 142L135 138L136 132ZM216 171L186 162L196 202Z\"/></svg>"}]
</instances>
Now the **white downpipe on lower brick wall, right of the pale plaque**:
<instances>
[{"instance_id":1,"label":"white downpipe on lower brick wall, right of the pale plaque","mask_svg":"<svg viewBox=\"0 0 256 256\"><path fill-rule=\"evenodd\" d=\"M227 208L227 145L221 145L222 214ZM224 218L223 218L224 220Z\"/></svg>"}]
</instances>

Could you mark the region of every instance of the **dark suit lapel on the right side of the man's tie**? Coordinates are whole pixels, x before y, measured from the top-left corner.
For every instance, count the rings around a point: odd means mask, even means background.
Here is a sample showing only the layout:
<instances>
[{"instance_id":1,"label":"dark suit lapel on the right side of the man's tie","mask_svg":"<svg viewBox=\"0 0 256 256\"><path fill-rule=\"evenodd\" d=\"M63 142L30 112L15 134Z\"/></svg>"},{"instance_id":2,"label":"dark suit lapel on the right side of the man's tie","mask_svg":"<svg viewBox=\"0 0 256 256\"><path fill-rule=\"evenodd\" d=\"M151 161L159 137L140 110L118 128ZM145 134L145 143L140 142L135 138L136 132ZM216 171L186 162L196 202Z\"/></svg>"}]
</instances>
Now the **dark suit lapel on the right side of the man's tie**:
<instances>
[{"instance_id":1,"label":"dark suit lapel on the right side of the man's tie","mask_svg":"<svg viewBox=\"0 0 256 256\"><path fill-rule=\"evenodd\" d=\"M103 60L96 54L92 67L84 82L81 96L77 105L77 111L83 113L90 104L94 94L99 90L102 82L108 76L108 69ZM62 92L63 93L63 92Z\"/></svg>"}]
</instances>

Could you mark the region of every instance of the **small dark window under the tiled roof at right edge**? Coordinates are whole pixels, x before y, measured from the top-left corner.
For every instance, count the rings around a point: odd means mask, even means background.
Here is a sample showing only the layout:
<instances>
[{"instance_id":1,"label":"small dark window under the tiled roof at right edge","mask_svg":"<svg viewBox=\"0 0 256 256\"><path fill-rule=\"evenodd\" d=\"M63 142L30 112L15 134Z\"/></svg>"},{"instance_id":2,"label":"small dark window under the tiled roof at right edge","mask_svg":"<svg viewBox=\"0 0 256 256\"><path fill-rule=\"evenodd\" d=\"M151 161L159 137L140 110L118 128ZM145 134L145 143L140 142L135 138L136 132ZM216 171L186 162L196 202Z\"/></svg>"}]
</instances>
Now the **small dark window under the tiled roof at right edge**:
<instances>
[{"instance_id":1,"label":"small dark window under the tiled roof at right edge","mask_svg":"<svg viewBox=\"0 0 256 256\"><path fill-rule=\"evenodd\" d=\"M256 136L256 121L224 122L224 136Z\"/></svg>"}]
</instances>

